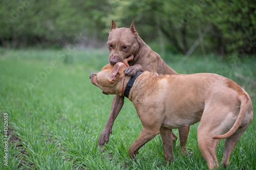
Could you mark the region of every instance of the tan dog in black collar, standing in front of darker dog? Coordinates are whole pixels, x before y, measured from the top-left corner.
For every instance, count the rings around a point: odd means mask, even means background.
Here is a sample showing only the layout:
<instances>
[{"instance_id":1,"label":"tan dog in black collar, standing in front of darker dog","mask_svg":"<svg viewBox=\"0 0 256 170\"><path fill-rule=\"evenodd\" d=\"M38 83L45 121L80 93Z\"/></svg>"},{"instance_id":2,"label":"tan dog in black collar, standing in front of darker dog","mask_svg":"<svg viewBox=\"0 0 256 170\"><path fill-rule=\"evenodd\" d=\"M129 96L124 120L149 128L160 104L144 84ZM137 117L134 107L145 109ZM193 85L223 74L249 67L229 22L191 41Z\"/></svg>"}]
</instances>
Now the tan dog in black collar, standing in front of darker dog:
<instances>
[{"instance_id":1,"label":"tan dog in black collar, standing in front of darker dog","mask_svg":"<svg viewBox=\"0 0 256 170\"><path fill-rule=\"evenodd\" d=\"M115 66L108 64L97 74L90 75L91 82L105 93L121 96L122 89L131 86L130 79L133 79L123 74L126 68L120 62ZM134 81L128 95L143 125L129 150L132 159L157 134L161 134L163 142L166 138L172 139L172 135L165 133L166 128L172 130L200 121L198 145L209 168L219 166L216 148L224 138L222 163L226 167L253 116L248 93L232 80L216 74L158 75L144 71ZM173 148L172 144L163 146L167 163L172 159Z\"/></svg>"}]
</instances>

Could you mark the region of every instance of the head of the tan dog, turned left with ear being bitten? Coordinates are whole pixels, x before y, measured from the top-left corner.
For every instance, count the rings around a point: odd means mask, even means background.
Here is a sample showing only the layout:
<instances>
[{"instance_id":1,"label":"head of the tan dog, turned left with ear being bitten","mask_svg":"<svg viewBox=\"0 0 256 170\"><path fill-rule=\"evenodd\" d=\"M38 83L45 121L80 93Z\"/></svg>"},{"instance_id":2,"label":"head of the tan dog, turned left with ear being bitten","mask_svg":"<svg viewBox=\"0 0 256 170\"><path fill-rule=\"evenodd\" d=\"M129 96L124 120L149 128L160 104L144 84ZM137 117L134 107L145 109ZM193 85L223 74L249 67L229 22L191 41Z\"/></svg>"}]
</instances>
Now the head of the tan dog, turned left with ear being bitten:
<instances>
[{"instance_id":1,"label":"head of the tan dog, turned left with ear being bitten","mask_svg":"<svg viewBox=\"0 0 256 170\"><path fill-rule=\"evenodd\" d=\"M128 61L133 60L133 56L124 59L124 62L118 62L114 66L108 64L100 72L90 75L91 83L99 87L103 94L122 95L123 80L125 75L123 71L128 67ZM124 64L125 63L125 64ZM129 81L127 77L126 81Z\"/></svg>"}]
</instances>

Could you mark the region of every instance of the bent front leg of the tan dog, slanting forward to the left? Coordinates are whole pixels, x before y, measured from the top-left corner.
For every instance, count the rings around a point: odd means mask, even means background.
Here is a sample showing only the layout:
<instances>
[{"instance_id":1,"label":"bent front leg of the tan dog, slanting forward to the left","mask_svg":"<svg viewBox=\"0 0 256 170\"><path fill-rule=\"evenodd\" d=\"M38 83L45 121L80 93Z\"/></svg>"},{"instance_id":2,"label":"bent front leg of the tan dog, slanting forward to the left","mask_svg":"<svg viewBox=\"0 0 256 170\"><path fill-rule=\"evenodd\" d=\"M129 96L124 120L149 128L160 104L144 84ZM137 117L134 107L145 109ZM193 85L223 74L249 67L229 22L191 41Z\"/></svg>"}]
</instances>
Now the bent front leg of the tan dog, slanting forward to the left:
<instances>
[{"instance_id":1,"label":"bent front leg of the tan dog, slanting forward to the left","mask_svg":"<svg viewBox=\"0 0 256 170\"><path fill-rule=\"evenodd\" d=\"M135 160L135 155L139 153L138 152L139 149L146 142L153 139L159 133L160 133L159 129L156 131L156 130L143 128L142 131L140 132L140 135L138 136L138 138L133 142L133 144L130 147L130 150L129 150L130 158Z\"/></svg>"}]
</instances>

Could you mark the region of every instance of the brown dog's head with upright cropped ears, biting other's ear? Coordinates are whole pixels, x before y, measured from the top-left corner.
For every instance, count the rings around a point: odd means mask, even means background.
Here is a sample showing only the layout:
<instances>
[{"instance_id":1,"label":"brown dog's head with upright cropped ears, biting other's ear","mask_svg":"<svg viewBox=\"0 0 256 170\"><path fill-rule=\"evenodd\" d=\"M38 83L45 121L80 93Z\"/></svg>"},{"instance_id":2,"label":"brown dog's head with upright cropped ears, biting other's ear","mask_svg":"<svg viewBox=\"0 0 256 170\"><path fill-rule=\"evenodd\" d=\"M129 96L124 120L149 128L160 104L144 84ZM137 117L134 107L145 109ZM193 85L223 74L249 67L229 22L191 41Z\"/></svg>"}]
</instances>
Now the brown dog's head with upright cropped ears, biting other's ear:
<instances>
[{"instance_id":1,"label":"brown dog's head with upright cropped ears, biting other's ear","mask_svg":"<svg viewBox=\"0 0 256 170\"><path fill-rule=\"evenodd\" d=\"M115 65L123 62L125 58L134 55L139 50L138 33L134 27L134 21L130 29L117 28L116 23L112 20L111 31L109 33L108 45L110 55L109 62Z\"/></svg>"}]
</instances>

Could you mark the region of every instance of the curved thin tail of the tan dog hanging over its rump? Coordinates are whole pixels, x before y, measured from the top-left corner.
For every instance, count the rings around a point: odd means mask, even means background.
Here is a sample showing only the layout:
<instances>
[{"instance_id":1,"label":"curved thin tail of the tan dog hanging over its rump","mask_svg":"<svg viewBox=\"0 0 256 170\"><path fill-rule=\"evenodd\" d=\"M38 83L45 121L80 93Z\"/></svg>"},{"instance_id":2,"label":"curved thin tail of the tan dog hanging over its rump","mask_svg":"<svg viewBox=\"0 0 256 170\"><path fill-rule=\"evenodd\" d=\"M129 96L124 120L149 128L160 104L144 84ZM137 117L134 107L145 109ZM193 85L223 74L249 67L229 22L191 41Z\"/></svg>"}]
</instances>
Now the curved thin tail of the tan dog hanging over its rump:
<instances>
[{"instance_id":1,"label":"curved thin tail of the tan dog hanging over its rump","mask_svg":"<svg viewBox=\"0 0 256 170\"><path fill-rule=\"evenodd\" d=\"M238 128L241 126L244 116L248 112L248 107L250 105L250 98L249 98L248 94L244 93L239 96L239 99L241 102L240 112L239 112L238 118L237 118L236 122L234 123L233 127L227 133L225 133L223 135L214 136L212 138L225 139L225 138L231 136L234 132L236 132L238 130Z\"/></svg>"}]
</instances>

